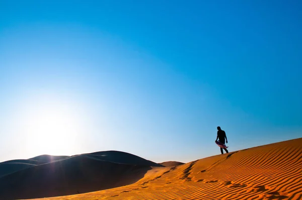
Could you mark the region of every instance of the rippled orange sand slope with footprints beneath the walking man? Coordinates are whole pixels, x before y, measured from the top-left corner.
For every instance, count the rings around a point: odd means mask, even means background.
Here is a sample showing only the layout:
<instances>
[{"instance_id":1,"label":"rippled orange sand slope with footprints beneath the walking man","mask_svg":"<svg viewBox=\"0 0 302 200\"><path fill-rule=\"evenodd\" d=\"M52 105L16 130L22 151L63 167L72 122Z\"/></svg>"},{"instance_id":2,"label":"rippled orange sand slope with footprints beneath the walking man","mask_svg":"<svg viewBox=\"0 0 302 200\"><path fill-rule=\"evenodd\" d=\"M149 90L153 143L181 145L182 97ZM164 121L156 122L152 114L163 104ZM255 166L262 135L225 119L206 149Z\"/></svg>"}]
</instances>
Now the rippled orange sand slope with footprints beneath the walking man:
<instances>
[{"instance_id":1,"label":"rippled orange sand slope with footprints beneath the walking man","mask_svg":"<svg viewBox=\"0 0 302 200\"><path fill-rule=\"evenodd\" d=\"M134 184L45 199L302 199L302 138L153 167Z\"/></svg>"}]
</instances>

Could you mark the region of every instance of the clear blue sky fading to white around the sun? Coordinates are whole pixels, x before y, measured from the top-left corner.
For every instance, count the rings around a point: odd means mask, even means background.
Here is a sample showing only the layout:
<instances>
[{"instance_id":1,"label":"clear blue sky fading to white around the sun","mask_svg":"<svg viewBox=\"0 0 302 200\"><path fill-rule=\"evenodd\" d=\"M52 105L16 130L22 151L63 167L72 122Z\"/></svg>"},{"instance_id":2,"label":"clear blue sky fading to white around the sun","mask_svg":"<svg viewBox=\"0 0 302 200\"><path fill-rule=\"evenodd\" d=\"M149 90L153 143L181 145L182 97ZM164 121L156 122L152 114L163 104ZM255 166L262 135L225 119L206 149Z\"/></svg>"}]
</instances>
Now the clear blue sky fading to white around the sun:
<instances>
[{"instance_id":1,"label":"clear blue sky fading to white around the sun","mask_svg":"<svg viewBox=\"0 0 302 200\"><path fill-rule=\"evenodd\" d=\"M302 136L301 1L0 1L0 161L162 162Z\"/></svg>"}]
</instances>

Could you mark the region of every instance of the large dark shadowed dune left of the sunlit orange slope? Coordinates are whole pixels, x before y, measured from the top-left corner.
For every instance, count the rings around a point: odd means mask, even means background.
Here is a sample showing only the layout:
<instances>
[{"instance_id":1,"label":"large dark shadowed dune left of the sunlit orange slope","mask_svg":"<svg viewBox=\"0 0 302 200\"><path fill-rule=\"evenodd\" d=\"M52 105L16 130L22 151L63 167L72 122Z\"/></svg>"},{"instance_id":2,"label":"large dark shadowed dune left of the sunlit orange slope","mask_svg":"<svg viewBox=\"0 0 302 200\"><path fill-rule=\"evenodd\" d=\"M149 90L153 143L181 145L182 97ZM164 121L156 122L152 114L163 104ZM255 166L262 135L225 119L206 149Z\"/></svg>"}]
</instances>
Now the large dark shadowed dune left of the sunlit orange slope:
<instances>
[{"instance_id":1,"label":"large dark shadowed dune left of the sunlit orange slope","mask_svg":"<svg viewBox=\"0 0 302 200\"><path fill-rule=\"evenodd\" d=\"M49 159L51 158L51 159ZM32 165L0 178L0 199L37 198L84 193L136 182L160 164L138 156L105 151L70 157L43 155L31 159L51 161Z\"/></svg>"}]
</instances>

